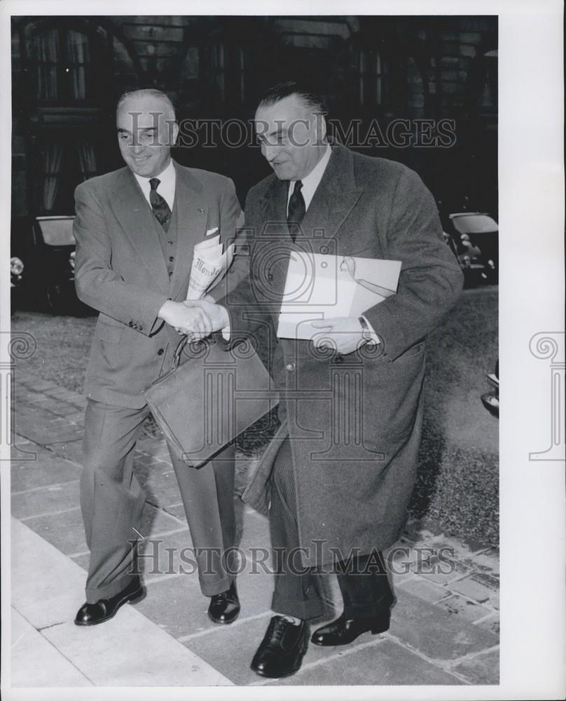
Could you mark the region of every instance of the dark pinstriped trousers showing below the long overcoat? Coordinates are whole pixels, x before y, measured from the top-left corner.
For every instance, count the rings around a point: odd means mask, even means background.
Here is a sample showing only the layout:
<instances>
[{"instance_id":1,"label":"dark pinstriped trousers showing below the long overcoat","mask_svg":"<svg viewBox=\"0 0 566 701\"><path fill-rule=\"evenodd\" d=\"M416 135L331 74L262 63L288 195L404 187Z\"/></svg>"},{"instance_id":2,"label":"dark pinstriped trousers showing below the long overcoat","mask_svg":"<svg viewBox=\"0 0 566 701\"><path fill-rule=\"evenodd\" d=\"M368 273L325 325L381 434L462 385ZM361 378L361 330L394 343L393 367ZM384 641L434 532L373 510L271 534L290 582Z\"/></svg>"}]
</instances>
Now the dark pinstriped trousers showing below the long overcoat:
<instances>
[{"instance_id":1,"label":"dark pinstriped trousers showing below the long overcoat","mask_svg":"<svg viewBox=\"0 0 566 701\"><path fill-rule=\"evenodd\" d=\"M297 557L299 539L293 470L291 443L286 438L277 452L271 475L270 533L275 562L272 610L296 618L319 618L327 611L329 600L325 594L324 573L301 566ZM389 605L392 590L380 551L335 562L333 571L340 585L346 618L377 615L384 604Z\"/></svg>"}]
</instances>

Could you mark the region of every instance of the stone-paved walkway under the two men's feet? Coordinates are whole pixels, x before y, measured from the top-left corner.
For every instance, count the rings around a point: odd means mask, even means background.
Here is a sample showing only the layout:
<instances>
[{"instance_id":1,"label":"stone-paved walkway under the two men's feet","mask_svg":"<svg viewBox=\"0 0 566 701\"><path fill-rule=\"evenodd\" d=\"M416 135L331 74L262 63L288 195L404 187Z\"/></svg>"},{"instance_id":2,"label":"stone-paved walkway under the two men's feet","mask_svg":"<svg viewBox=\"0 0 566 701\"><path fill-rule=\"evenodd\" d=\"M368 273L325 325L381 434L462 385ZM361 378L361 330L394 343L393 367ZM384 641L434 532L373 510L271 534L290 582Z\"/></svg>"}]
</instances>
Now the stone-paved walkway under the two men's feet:
<instances>
[{"instance_id":1,"label":"stone-paved walkway under the two men's feet","mask_svg":"<svg viewBox=\"0 0 566 701\"><path fill-rule=\"evenodd\" d=\"M149 495L140 529L146 597L104 625L74 626L88 564L78 502L85 400L22 374L11 466L12 686L498 683L499 553L415 520L389 552L399 603L387 633L364 634L344 648L310 645L301 671L288 679L256 676L249 662L272 591L268 562L259 562L259 549L269 547L266 519L236 497L242 613L230 626L214 625L196 574L180 571L192 569L184 550L191 538L158 437L139 441L135 463ZM242 457L237 491L248 465ZM333 578L329 589L340 601Z\"/></svg>"}]
</instances>

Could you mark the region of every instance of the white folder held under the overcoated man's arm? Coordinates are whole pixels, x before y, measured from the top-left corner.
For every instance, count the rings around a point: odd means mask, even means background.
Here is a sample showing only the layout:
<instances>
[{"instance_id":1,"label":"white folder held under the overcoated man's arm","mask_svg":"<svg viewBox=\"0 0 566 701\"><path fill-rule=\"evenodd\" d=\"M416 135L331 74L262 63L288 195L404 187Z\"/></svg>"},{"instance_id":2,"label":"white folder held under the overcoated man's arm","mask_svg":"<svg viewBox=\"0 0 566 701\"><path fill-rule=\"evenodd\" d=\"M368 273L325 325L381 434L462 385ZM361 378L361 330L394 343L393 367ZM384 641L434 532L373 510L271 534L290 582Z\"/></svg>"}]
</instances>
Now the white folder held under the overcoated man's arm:
<instances>
[{"instance_id":1,"label":"white folder held under the overcoated man's arm","mask_svg":"<svg viewBox=\"0 0 566 701\"><path fill-rule=\"evenodd\" d=\"M292 252L277 336L310 340L315 320L359 317L395 294L401 261Z\"/></svg>"}]
</instances>

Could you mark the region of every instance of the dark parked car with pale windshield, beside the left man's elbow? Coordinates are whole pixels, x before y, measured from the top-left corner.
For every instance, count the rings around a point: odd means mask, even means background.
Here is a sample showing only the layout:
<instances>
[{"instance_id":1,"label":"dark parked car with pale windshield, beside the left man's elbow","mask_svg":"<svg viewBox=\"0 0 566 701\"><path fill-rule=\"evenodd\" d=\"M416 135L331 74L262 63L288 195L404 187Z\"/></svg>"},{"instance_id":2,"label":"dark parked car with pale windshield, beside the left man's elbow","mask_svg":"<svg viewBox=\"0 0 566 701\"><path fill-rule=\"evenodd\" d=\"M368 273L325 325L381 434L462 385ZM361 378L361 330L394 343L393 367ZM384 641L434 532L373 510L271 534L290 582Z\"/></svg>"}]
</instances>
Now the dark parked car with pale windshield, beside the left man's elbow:
<instances>
[{"instance_id":1,"label":"dark parked car with pale windshield, beside the left man's elbow","mask_svg":"<svg viewBox=\"0 0 566 701\"><path fill-rule=\"evenodd\" d=\"M34 276L40 297L53 312L77 303L75 292L74 217L35 217L32 224Z\"/></svg>"}]
</instances>

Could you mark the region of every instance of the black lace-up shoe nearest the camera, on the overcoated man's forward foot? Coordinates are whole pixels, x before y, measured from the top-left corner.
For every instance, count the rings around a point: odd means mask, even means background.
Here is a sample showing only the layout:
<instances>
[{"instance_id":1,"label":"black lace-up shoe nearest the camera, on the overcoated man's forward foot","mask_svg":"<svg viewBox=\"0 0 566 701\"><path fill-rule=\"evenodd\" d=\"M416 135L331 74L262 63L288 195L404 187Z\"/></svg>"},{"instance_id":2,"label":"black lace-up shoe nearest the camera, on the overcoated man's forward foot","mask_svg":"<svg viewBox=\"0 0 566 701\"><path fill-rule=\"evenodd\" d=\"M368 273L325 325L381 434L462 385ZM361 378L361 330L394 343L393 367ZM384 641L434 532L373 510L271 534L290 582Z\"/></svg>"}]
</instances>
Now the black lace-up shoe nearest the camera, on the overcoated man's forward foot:
<instances>
[{"instance_id":1,"label":"black lace-up shoe nearest the camera, on the overcoated man's forward foot","mask_svg":"<svg viewBox=\"0 0 566 701\"><path fill-rule=\"evenodd\" d=\"M275 615L258 647L251 669L261 676L279 679L301 669L303 655L308 648L308 622L295 625L283 616Z\"/></svg>"}]
</instances>

